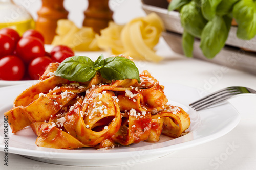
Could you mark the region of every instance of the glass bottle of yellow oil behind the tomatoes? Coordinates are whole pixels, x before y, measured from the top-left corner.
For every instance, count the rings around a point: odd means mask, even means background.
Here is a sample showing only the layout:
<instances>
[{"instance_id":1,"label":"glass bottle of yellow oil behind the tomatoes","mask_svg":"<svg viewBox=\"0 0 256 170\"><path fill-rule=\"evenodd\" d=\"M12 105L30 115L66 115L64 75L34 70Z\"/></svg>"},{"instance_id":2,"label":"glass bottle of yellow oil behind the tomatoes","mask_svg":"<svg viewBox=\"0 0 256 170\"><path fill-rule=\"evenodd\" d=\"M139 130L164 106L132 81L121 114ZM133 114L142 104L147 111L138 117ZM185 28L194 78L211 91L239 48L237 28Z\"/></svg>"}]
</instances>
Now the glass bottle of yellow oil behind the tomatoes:
<instances>
[{"instance_id":1,"label":"glass bottle of yellow oil behind the tomatoes","mask_svg":"<svg viewBox=\"0 0 256 170\"><path fill-rule=\"evenodd\" d=\"M35 22L23 6L18 6L13 0L0 0L0 29L5 27L22 35L28 29L34 29Z\"/></svg>"}]
</instances>

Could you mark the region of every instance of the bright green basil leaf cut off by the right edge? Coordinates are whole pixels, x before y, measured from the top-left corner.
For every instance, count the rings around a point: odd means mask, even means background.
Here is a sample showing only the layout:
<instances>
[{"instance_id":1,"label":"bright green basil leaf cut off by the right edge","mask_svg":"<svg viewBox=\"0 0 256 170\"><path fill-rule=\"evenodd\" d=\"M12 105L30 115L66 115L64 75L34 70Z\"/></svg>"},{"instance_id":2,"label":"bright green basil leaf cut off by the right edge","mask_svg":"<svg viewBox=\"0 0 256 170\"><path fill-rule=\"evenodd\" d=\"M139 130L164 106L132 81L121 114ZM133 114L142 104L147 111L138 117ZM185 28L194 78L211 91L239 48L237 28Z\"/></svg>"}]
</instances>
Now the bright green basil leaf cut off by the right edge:
<instances>
[{"instance_id":1,"label":"bright green basil leaf cut off by the right edge","mask_svg":"<svg viewBox=\"0 0 256 170\"><path fill-rule=\"evenodd\" d=\"M256 2L241 0L233 7L233 17L238 23L237 37L249 40L256 35Z\"/></svg>"}]
</instances>

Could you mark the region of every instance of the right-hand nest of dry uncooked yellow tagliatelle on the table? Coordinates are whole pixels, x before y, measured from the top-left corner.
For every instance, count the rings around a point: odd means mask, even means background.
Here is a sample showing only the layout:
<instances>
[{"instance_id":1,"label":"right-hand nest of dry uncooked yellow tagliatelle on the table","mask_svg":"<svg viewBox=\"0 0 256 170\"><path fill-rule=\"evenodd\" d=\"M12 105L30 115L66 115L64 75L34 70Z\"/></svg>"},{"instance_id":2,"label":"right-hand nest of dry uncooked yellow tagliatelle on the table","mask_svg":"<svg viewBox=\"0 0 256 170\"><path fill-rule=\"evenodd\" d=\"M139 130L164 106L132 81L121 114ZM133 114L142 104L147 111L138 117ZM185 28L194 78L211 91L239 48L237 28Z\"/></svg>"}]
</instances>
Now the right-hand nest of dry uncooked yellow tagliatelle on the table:
<instances>
[{"instance_id":1,"label":"right-hand nest of dry uncooked yellow tagliatelle on the table","mask_svg":"<svg viewBox=\"0 0 256 170\"><path fill-rule=\"evenodd\" d=\"M125 26L110 22L109 27L96 35L98 46L113 54L124 54L136 60L159 62L162 57L153 48L164 30L162 20L151 13L131 20Z\"/></svg>"}]
</instances>

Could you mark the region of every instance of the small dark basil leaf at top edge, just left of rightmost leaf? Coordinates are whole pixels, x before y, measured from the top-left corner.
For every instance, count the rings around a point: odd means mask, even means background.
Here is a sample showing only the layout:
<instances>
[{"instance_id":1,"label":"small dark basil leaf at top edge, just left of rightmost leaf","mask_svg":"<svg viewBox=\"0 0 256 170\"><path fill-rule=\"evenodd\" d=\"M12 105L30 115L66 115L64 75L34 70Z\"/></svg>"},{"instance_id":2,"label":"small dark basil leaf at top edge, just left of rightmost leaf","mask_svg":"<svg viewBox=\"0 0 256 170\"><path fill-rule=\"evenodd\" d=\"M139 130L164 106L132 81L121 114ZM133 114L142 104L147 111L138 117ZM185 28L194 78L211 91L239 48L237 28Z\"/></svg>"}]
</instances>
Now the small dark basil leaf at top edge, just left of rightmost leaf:
<instances>
[{"instance_id":1,"label":"small dark basil leaf at top edge, just left of rightmost leaf","mask_svg":"<svg viewBox=\"0 0 256 170\"><path fill-rule=\"evenodd\" d=\"M227 15L232 12L234 4L239 0L224 0L218 5L216 9L216 14L219 16Z\"/></svg>"}]
</instances>

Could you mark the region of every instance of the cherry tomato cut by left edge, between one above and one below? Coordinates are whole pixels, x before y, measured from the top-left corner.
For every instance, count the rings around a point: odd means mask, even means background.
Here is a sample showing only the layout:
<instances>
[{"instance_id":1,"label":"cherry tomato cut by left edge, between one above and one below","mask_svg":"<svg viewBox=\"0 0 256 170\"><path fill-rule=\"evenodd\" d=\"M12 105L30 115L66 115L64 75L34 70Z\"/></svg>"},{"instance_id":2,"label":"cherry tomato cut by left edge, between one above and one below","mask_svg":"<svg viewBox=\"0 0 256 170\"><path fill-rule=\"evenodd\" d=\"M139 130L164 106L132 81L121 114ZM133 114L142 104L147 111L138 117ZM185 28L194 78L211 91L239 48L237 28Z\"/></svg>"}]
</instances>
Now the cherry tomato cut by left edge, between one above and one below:
<instances>
[{"instance_id":1,"label":"cherry tomato cut by left edge, between one above and one below","mask_svg":"<svg viewBox=\"0 0 256 170\"><path fill-rule=\"evenodd\" d=\"M0 58L11 54L14 48L14 40L8 35L0 34Z\"/></svg>"}]
</instances>

